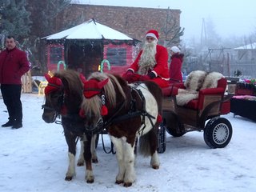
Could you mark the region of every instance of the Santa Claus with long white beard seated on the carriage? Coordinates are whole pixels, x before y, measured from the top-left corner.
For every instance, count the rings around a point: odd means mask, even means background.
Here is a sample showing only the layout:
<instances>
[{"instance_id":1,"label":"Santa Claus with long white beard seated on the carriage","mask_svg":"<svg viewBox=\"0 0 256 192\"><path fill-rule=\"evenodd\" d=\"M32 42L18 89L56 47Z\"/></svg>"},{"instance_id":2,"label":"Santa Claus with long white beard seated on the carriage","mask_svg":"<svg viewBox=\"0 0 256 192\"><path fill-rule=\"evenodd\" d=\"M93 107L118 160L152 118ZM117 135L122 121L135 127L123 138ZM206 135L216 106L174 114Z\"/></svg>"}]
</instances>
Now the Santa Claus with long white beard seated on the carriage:
<instances>
[{"instance_id":1,"label":"Santa Claus with long white beard seated on the carriage","mask_svg":"<svg viewBox=\"0 0 256 192\"><path fill-rule=\"evenodd\" d=\"M158 45L158 31L149 30L145 38L142 50L123 78L129 83L150 80L160 87L169 86L168 51L166 47Z\"/></svg>"}]
</instances>

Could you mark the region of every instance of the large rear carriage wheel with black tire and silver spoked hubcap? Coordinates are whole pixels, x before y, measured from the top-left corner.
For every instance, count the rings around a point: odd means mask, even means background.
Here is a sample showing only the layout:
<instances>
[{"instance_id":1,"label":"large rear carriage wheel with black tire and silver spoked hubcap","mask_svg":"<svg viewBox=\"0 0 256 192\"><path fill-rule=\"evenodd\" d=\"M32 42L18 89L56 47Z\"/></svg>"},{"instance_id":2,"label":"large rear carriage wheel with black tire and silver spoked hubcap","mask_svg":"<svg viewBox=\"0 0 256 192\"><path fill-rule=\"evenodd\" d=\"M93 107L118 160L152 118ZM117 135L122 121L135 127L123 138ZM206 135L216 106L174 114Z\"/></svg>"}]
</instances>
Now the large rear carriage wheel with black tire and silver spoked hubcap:
<instances>
[{"instance_id":1,"label":"large rear carriage wheel with black tire and silver spoked hubcap","mask_svg":"<svg viewBox=\"0 0 256 192\"><path fill-rule=\"evenodd\" d=\"M232 138L232 126L226 118L214 118L207 122L203 138L210 148L223 148Z\"/></svg>"}]
</instances>

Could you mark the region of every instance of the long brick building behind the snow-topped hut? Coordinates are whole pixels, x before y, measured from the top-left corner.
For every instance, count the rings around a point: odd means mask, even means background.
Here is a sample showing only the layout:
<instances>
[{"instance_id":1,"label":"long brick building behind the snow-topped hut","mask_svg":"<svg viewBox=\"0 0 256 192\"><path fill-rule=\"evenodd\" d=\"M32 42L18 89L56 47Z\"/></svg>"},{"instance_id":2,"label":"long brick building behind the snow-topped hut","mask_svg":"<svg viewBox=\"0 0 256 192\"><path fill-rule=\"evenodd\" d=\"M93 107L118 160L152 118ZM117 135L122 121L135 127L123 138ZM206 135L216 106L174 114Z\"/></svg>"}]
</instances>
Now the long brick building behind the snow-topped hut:
<instances>
[{"instance_id":1,"label":"long brick building behind the snow-topped hut","mask_svg":"<svg viewBox=\"0 0 256 192\"><path fill-rule=\"evenodd\" d=\"M164 40L166 21L180 26L181 10L155 9L127 6L94 6L70 4L58 14L55 22L56 32L94 18L103 25L110 26L132 38L142 40L147 30L158 30L160 43ZM171 35L171 34L169 34Z\"/></svg>"}]
</instances>

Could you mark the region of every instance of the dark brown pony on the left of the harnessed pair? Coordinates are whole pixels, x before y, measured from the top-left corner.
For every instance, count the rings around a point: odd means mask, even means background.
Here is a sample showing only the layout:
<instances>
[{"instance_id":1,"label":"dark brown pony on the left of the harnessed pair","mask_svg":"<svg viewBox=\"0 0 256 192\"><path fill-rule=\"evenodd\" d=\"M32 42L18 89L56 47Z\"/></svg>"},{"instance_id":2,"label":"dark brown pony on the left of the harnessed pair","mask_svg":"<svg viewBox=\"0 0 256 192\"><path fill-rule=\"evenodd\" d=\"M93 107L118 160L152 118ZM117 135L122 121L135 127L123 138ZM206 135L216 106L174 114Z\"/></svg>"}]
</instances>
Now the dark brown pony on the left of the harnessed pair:
<instances>
[{"instance_id":1,"label":"dark brown pony on the left of the harnessed pair","mask_svg":"<svg viewBox=\"0 0 256 192\"><path fill-rule=\"evenodd\" d=\"M50 77L46 74L48 85L45 88L46 102L42 106L42 119L55 122L60 114L68 145L69 166L65 180L70 181L75 175L76 142L81 138L81 150L78 166L86 162L86 182L94 182L91 162L98 162L95 139L96 135L86 134L83 119L79 115L83 100L83 81L85 78L74 70L62 70Z\"/></svg>"}]
</instances>

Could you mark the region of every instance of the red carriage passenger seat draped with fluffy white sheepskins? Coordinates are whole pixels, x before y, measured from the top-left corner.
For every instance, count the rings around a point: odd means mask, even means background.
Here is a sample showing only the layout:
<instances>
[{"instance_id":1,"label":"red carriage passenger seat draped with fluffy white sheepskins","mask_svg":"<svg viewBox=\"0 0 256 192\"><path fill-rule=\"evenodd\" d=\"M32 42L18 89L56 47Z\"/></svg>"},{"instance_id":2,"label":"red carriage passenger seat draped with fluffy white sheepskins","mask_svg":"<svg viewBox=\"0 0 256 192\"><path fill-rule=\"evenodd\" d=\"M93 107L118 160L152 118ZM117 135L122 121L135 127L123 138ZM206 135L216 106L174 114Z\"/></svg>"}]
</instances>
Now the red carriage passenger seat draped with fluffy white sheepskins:
<instances>
[{"instance_id":1,"label":"red carriage passenger seat draped with fluffy white sheepskins","mask_svg":"<svg viewBox=\"0 0 256 192\"><path fill-rule=\"evenodd\" d=\"M203 110L210 102L221 101L226 91L226 78L218 73L197 70L188 75L186 82L174 83L162 90L163 95L175 96L176 105L191 110ZM230 103L221 106L221 114L230 112Z\"/></svg>"}]
</instances>

